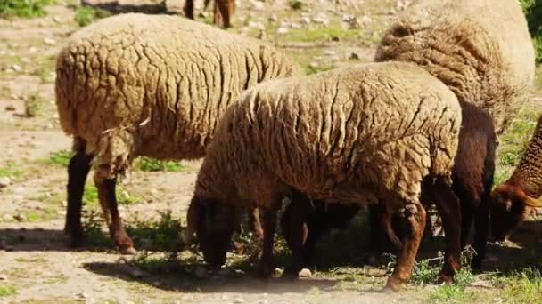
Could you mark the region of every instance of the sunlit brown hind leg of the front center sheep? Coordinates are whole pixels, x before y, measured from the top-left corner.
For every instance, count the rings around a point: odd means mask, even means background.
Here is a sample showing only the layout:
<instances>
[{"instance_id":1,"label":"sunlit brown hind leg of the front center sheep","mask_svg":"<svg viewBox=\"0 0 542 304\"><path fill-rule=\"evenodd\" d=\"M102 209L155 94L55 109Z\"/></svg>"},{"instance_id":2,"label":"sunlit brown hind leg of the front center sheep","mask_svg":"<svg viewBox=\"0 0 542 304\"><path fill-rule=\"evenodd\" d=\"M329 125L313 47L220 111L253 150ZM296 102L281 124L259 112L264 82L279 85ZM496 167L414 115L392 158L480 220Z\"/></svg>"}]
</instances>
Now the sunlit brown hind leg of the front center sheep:
<instances>
[{"instance_id":1,"label":"sunlit brown hind leg of the front center sheep","mask_svg":"<svg viewBox=\"0 0 542 304\"><path fill-rule=\"evenodd\" d=\"M403 246L399 253L397 266L393 274L388 278L386 289L398 291L400 284L407 282L412 275L414 261L420 243L422 241L423 230L425 228L425 209L419 202L405 204L402 211L403 219L406 223L405 235L403 236Z\"/></svg>"}]
</instances>

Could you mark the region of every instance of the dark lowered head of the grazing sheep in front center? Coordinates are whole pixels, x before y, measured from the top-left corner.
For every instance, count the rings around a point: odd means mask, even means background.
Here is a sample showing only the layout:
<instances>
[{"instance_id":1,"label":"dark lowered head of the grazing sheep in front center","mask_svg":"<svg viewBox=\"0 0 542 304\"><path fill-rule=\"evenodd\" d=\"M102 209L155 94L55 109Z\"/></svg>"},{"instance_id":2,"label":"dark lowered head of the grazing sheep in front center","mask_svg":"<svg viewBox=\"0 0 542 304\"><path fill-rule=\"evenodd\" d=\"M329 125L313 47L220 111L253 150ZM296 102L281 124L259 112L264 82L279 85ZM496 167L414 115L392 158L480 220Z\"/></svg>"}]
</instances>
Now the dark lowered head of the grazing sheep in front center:
<instances>
[{"instance_id":1,"label":"dark lowered head of the grazing sheep in front center","mask_svg":"<svg viewBox=\"0 0 542 304\"><path fill-rule=\"evenodd\" d=\"M226 262L229 247L238 219L234 208L218 199L201 199L194 196L187 215L190 234L195 231L205 261L213 268Z\"/></svg>"}]
</instances>

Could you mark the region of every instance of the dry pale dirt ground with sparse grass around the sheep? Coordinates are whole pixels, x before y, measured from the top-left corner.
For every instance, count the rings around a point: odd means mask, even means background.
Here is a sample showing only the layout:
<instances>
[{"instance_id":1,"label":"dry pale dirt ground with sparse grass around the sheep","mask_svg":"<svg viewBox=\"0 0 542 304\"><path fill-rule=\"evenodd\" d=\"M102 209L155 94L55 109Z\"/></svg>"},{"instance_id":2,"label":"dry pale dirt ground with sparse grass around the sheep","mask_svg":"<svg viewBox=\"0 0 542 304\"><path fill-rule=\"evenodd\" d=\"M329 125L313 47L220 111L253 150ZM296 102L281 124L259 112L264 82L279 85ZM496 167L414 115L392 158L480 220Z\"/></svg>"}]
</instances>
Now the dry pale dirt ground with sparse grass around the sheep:
<instances>
[{"instance_id":1,"label":"dry pale dirt ground with sparse grass around the sheep","mask_svg":"<svg viewBox=\"0 0 542 304\"><path fill-rule=\"evenodd\" d=\"M177 10L184 3L168 2ZM243 0L231 30L263 35L309 70L332 68L372 60L383 28L406 2L306 1L305 8L292 11L283 0ZM58 125L53 80L55 56L78 29L76 10L72 3L57 1L42 18L0 19L0 181L6 183L0 182L0 286L11 288L4 296L0 290L0 303L424 302L438 288L409 284L403 292L383 293L385 275L371 268L354 276L338 272L319 276L316 271L309 279L275 277L267 282L250 276L250 271L229 268L224 276L201 279L193 273L197 268L183 266L183 259L177 260L178 267L164 271L138 267L133 257L121 258L107 241L98 247L71 249L62 232L66 169L52 161L54 153L69 150L71 142ZM357 36L351 36L351 30L341 31L352 17L357 17ZM332 39L314 34L311 28L324 28ZM539 105L540 98L532 100ZM36 113L28 115L33 103L38 105ZM198 167L193 162L176 172L131 172L122 188L138 201L121 205L127 225L156 219L166 210L184 219ZM540 238L529 236L531 243ZM489 249L490 269L511 254L532 257L541 252L534 247L491 245ZM498 286L484 276L476 276L476 281L478 285L468 287L478 294L476 301L503 301Z\"/></svg>"}]
</instances>

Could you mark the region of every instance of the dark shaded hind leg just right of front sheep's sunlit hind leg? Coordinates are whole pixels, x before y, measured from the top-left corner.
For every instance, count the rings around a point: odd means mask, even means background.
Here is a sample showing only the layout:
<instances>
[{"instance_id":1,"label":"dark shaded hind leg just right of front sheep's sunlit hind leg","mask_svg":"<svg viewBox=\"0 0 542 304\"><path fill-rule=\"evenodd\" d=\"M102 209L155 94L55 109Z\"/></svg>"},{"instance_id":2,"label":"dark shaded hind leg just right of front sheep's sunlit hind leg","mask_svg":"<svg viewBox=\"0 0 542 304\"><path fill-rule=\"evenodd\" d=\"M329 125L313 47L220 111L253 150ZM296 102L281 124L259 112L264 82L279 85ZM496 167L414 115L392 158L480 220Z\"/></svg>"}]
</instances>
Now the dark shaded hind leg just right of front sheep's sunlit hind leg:
<instances>
[{"instance_id":1,"label":"dark shaded hind leg just right of front sheep's sunlit hind leg","mask_svg":"<svg viewBox=\"0 0 542 304\"><path fill-rule=\"evenodd\" d=\"M443 180L437 180L424 190L430 192L439 209L444 228L446 249L444 266L439 274L439 282L451 282L461 269L461 206L459 200Z\"/></svg>"}]
</instances>

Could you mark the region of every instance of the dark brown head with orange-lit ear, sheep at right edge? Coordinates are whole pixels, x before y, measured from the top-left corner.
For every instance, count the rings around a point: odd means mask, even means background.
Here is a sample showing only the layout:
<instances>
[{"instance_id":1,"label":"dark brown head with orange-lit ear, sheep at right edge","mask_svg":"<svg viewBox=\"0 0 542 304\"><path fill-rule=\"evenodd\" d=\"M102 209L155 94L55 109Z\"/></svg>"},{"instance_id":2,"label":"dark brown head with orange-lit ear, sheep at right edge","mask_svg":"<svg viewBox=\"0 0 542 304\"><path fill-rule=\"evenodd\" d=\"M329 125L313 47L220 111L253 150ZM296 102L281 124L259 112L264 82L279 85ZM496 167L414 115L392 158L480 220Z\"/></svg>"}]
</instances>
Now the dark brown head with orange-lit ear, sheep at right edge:
<instances>
[{"instance_id":1,"label":"dark brown head with orange-lit ear, sheep at right edge","mask_svg":"<svg viewBox=\"0 0 542 304\"><path fill-rule=\"evenodd\" d=\"M529 215L531 208L542 207L542 202L528 196L516 186L503 184L491 193L491 233L502 241L510 235L521 220Z\"/></svg>"}]
</instances>

